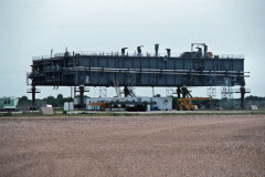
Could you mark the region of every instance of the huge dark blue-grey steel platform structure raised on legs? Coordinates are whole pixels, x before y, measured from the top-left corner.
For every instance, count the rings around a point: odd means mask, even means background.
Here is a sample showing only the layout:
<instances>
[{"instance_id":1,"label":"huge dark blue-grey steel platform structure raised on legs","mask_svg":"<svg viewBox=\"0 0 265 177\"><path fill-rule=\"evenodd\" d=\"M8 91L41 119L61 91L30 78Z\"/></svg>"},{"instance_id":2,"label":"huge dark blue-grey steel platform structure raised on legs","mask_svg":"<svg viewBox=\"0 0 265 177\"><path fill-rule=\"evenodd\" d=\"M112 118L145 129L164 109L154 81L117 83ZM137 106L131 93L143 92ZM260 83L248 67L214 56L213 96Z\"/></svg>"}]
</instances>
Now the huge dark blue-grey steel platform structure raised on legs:
<instances>
[{"instance_id":1,"label":"huge dark blue-grey steel platform structure raised on legs","mask_svg":"<svg viewBox=\"0 0 265 177\"><path fill-rule=\"evenodd\" d=\"M190 52L179 55L142 54L142 46L121 52L68 52L33 58L29 74L32 95L35 86L223 86L245 85L243 55L213 55L204 43L193 43ZM197 49L197 50L194 50Z\"/></svg>"}]
</instances>

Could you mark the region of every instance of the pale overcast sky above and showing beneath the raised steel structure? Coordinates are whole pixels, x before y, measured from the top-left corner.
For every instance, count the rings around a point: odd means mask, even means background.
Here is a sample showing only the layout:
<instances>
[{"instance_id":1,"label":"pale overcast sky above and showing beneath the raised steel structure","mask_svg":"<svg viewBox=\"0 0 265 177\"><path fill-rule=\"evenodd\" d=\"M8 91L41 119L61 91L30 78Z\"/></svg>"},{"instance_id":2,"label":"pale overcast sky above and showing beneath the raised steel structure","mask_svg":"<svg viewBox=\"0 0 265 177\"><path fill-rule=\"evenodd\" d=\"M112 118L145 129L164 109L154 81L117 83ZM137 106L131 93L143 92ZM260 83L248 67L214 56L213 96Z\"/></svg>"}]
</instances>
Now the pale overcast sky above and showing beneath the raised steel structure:
<instances>
[{"instance_id":1,"label":"pale overcast sky above and showing beneath the raised steel structure","mask_svg":"<svg viewBox=\"0 0 265 177\"><path fill-rule=\"evenodd\" d=\"M205 42L214 54L244 54L246 87L265 96L264 0L0 0L0 97L26 94L32 56L70 51L172 53ZM36 97L70 95L70 88L40 87ZM94 88L92 88L94 91ZM150 96L150 88L137 94ZM109 91L110 96L114 94ZM157 92L165 92L158 90ZM206 88L195 90L204 96ZM163 94L163 93L162 93ZM93 92L89 96L97 96Z\"/></svg>"}]
</instances>

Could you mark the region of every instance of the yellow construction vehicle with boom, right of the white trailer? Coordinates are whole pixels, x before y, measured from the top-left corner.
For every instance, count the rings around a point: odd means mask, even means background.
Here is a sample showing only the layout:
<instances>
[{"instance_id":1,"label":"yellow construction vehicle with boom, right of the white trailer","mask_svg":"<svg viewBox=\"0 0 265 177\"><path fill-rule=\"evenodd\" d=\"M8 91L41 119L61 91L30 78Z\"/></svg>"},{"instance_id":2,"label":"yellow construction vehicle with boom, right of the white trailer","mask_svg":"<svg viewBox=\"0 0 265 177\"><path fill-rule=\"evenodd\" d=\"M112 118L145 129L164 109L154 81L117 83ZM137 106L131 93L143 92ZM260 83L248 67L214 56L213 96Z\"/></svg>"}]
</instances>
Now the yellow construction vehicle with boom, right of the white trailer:
<instances>
[{"instance_id":1,"label":"yellow construction vehicle with boom, right of the white trailer","mask_svg":"<svg viewBox=\"0 0 265 177\"><path fill-rule=\"evenodd\" d=\"M178 98L177 110L178 111L195 111L198 110L197 105L192 104L192 101L202 101L210 100L210 97L182 97Z\"/></svg>"}]
</instances>

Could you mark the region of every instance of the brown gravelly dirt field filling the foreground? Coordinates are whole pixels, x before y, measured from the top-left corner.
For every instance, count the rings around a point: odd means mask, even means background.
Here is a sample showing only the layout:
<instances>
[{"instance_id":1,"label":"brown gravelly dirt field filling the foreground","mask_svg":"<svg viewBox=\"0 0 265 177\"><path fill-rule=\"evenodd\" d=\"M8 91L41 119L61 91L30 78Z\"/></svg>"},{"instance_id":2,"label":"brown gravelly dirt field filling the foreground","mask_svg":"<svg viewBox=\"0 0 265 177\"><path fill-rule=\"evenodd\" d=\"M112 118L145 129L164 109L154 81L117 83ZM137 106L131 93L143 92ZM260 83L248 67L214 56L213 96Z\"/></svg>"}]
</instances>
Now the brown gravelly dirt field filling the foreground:
<instances>
[{"instance_id":1,"label":"brown gravelly dirt field filling the foreground","mask_svg":"<svg viewBox=\"0 0 265 177\"><path fill-rule=\"evenodd\" d=\"M2 117L0 176L265 176L265 115Z\"/></svg>"}]
</instances>

